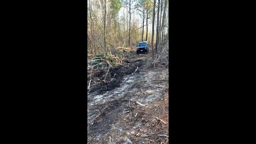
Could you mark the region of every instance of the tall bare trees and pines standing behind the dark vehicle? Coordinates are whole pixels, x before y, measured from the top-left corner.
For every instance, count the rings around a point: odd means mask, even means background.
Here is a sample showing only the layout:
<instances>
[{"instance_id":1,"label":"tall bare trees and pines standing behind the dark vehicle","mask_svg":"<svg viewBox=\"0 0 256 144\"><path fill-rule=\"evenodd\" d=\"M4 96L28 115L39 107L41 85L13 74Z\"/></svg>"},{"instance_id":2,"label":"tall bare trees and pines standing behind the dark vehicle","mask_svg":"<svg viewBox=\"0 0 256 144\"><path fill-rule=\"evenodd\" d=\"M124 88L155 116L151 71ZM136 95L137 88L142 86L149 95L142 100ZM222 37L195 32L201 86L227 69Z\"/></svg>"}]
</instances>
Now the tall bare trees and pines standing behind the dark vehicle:
<instances>
[{"instance_id":1,"label":"tall bare trees and pines standing behind the dark vehicle","mask_svg":"<svg viewBox=\"0 0 256 144\"><path fill-rule=\"evenodd\" d=\"M87 53L112 53L117 47L148 41L158 57L169 39L168 0L87 0Z\"/></svg>"}]
</instances>

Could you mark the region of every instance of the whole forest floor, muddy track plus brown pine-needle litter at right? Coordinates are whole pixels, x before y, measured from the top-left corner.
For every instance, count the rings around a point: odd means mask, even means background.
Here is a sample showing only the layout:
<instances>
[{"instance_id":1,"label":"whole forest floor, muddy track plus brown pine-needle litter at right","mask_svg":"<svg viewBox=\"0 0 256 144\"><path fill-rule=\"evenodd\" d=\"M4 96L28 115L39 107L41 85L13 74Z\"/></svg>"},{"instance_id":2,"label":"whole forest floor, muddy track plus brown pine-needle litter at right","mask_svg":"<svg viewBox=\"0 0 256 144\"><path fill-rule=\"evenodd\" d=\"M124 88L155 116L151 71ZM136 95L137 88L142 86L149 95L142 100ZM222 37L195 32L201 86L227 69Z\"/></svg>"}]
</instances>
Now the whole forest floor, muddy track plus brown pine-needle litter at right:
<instances>
[{"instance_id":1,"label":"whole forest floor, muddy track plus brown pine-needle litter at right","mask_svg":"<svg viewBox=\"0 0 256 144\"><path fill-rule=\"evenodd\" d=\"M87 143L168 143L169 70L151 52L127 52L121 65L94 69L87 92ZM107 74L107 76L106 76Z\"/></svg>"}]
</instances>

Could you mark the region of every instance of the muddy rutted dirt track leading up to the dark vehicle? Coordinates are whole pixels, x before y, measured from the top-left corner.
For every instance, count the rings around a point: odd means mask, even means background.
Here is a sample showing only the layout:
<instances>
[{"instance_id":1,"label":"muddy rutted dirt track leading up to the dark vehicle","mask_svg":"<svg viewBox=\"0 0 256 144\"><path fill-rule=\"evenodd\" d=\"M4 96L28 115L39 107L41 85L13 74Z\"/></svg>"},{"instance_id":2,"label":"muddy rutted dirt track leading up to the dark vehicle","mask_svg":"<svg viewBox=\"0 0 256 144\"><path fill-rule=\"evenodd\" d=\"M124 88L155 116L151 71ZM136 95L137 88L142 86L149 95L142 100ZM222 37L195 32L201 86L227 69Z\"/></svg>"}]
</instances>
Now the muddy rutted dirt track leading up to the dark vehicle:
<instances>
[{"instance_id":1,"label":"muddy rutted dirt track leading up to the dark vehicle","mask_svg":"<svg viewBox=\"0 0 256 144\"><path fill-rule=\"evenodd\" d=\"M169 79L164 65L148 68L150 57L151 53L137 55L133 49L124 65L95 74L99 83L87 96L88 143L145 143L137 133L145 126L143 108L161 99ZM139 107L142 112L135 113Z\"/></svg>"}]
</instances>

